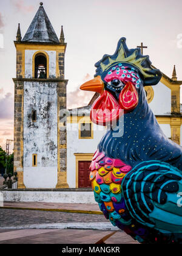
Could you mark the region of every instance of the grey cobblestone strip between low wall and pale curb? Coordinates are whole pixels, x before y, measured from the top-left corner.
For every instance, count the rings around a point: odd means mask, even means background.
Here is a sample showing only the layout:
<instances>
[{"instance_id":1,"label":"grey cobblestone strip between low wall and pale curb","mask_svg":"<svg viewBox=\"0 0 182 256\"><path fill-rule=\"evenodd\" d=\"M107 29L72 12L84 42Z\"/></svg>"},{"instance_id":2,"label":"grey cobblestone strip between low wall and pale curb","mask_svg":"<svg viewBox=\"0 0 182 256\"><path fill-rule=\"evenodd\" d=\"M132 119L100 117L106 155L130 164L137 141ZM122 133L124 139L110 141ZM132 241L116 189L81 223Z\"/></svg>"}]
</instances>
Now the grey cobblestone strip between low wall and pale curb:
<instances>
[{"instance_id":1,"label":"grey cobblestone strip between low wall and pale curb","mask_svg":"<svg viewBox=\"0 0 182 256\"><path fill-rule=\"evenodd\" d=\"M0 226L19 226L22 224L43 224L56 222L107 222L103 215L84 213L44 212L36 210L0 209ZM109 222L109 221L108 221Z\"/></svg>"}]
</instances>

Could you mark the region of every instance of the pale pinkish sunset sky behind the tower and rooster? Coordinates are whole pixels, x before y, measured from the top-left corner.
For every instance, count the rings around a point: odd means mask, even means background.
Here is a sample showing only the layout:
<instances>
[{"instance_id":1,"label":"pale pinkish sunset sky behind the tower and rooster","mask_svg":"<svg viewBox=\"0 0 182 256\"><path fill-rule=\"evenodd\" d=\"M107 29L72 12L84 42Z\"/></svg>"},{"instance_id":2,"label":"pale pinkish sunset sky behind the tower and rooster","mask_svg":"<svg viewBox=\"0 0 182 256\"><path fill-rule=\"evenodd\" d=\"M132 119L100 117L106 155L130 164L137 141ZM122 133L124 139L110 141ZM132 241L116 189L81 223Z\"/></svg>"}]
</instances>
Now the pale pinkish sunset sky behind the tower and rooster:
<instances>
[{"instance_id":1,"label":"pale pinkish sunset sky behind the tower and rooster","mask_svg":"<svg viewBox=\"0 0 182 256\"><path fill-rule=\"evenodd\" d=\"M36 11L38 0L0 0L0 145L13 139L13 101L16 52L13 40L18 23L24 37ZM67 42L65 73L67 105L86 105L93 93L79 85L95 74L94 64L104 54L113 54L121 37L127 46L148 46L153 65L172 76L176 65L182 80L182 1L181 0L44 0L44 9L60 35L61 25ZM4 48L2 40L4 38ZM181 97L182 99L182 97ZM161 97L161 100L165 100Z\"/></svg>"}]
</instances>

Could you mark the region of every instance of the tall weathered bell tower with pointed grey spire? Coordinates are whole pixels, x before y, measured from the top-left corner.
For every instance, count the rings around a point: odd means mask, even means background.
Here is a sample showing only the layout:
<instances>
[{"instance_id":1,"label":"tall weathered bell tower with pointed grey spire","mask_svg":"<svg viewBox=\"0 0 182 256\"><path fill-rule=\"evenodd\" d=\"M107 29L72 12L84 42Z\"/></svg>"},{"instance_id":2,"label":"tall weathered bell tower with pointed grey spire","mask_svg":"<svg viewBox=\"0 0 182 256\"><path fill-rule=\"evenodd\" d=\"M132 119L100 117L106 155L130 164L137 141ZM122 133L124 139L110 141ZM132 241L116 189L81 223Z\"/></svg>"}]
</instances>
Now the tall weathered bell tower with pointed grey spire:
<instances>
[{"instance_id":1,"label":"tall weathered bell tower with pointed grey spire","mask_svg":"<svg viewBox=\"0 0 182 256\"><path fill-rule=\"evenodd\" d=\"M18 188L66 188L66 108L61 27L58 39L42 2L24 38L16 35L14 171Z\"/></svg>"}]
</instances>

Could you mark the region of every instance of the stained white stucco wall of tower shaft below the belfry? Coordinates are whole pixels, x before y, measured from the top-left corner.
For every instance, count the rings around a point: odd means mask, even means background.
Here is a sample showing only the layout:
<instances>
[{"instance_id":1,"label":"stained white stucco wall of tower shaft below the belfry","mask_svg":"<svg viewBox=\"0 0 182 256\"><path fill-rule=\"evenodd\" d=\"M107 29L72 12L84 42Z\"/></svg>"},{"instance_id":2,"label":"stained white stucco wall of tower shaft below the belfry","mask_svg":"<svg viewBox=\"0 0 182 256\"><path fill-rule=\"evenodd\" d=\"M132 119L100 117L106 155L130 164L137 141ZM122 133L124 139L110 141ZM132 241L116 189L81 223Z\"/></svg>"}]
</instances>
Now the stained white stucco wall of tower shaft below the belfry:
<instances>
[{"instance_id":1,"label":"stained white stucco wall of tower shaft below the belfry","mask_svg":"<svg viewBox=\"0 0 182 256\"><path fill-rule=\"evenodd\" d=\"M24 184L55 188L57 183L57 83L24 82ZM36 122L32 121L36 110ZM32 166L37 154L37 166Z\"/></svg>"}]
</instances>

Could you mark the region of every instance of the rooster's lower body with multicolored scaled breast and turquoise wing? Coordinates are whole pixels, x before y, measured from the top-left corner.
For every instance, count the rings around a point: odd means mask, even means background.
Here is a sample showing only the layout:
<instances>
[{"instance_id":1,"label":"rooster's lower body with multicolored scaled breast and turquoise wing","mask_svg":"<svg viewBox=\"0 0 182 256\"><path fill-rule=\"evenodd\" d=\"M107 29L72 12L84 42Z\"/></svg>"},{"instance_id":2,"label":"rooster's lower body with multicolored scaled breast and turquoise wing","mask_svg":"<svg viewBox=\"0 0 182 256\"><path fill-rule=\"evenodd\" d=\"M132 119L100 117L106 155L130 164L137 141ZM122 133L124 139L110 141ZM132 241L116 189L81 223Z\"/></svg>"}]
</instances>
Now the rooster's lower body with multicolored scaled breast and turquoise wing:
<instances>
[{"instance_id":1,"label":"rooster's lower body with multicolored scaled breast and turquoise wing","mask_svg":"<svg viewBox=\"0 0 182 256\"><path fill-rule=\"evenodd\" d=\"M177 193L182 172L159 161L131 168L96 151L90 165L95 201L113 226L140 243L182 243Z\"/></svg>"}]
</instances>

